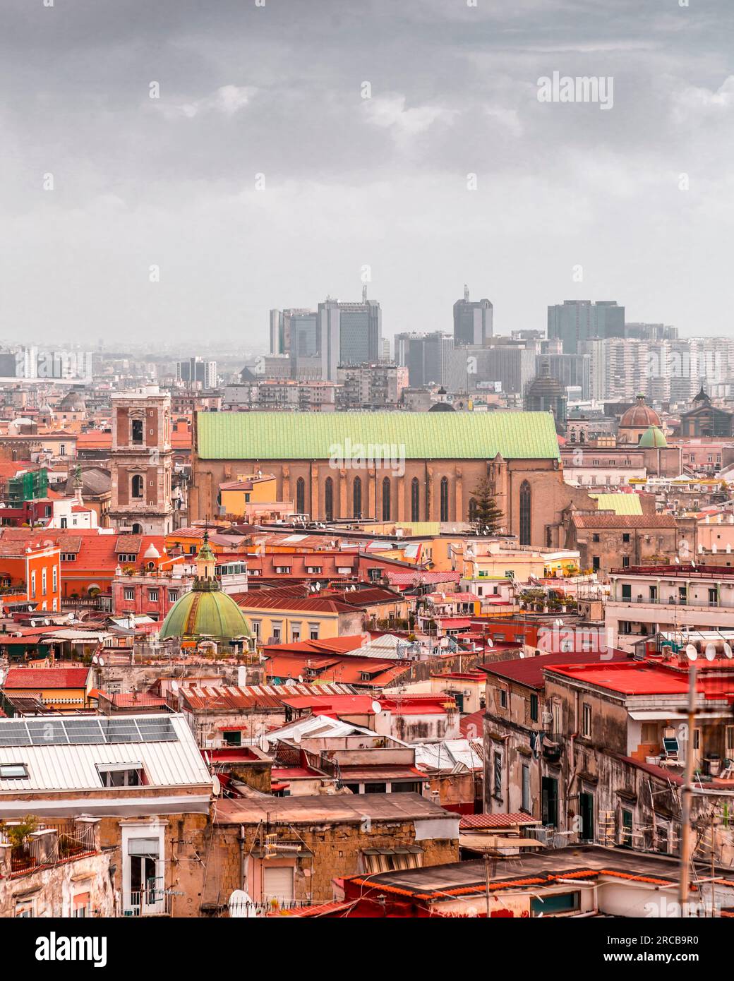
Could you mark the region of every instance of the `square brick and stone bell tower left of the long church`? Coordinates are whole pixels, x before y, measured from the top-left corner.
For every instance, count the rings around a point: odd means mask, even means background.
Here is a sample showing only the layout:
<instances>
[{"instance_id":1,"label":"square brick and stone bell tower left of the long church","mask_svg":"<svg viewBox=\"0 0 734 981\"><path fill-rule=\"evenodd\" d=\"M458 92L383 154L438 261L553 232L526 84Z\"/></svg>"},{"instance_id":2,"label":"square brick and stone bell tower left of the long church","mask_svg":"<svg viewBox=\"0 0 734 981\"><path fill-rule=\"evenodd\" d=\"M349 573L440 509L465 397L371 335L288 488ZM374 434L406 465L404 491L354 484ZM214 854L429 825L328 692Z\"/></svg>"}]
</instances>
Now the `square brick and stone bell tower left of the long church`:
<instances>
[{"instance_id":1,"label":"square brick and stone bell tower left of the long church","mask_svg":"<svg viewBox=\"0 0 734 981\"><path fill-rule=\"evenodd\" d=\"M146 386L113 394L111 465L110 523L132 534L171 532L173 454L168 392Z\"/></svg>"}]
</instances>

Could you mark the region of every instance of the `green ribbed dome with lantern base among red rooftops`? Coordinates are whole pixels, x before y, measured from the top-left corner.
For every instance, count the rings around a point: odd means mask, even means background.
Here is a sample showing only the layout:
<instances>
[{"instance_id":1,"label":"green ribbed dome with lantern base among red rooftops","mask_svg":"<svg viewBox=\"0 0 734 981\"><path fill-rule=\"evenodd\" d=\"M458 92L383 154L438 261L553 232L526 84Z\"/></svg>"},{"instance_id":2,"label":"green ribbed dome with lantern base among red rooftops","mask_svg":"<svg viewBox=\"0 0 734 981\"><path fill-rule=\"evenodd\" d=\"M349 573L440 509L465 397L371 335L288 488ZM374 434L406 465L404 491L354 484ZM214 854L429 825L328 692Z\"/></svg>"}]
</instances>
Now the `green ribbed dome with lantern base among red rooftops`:
<instances>
[{"instance_id":1,"label":"green ribbed dome with lantern base among red rooftops","mask_svg":"<svg viewBox=\"0 0 734 981\"><path fill-rule=\"evenodd\" d=\"M213 641L250 637L244 614L232 596L219 589L216 581L197 581L190 593L177 599L163 621L159 638L166 641L203 636Z\"/></svg>"}]
</instances>

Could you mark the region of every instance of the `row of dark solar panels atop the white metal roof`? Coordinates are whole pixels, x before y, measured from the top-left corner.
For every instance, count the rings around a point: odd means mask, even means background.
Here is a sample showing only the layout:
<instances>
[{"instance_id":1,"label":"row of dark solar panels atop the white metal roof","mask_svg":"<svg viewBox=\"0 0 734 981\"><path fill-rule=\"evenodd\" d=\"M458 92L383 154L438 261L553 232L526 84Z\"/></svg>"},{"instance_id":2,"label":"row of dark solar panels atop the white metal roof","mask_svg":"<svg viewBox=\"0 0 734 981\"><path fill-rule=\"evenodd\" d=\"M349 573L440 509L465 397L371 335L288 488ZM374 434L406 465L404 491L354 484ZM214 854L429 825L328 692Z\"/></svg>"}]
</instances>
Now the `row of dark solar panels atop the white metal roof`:
<instances>
[{"instance_id":1,"label":"row of dark solar panels atop the white metal roof","mask_svg":"<svg viewBox=\"0 0 734 981\"><path fill-rule=\"evenodd\" d=\"M0 719L0 746L80 746L176 740L170 718Z\"/></svg>"}]
</instances>

